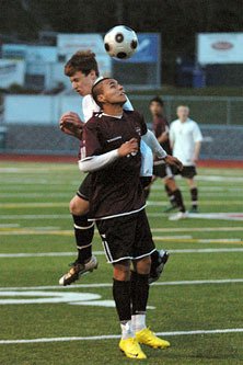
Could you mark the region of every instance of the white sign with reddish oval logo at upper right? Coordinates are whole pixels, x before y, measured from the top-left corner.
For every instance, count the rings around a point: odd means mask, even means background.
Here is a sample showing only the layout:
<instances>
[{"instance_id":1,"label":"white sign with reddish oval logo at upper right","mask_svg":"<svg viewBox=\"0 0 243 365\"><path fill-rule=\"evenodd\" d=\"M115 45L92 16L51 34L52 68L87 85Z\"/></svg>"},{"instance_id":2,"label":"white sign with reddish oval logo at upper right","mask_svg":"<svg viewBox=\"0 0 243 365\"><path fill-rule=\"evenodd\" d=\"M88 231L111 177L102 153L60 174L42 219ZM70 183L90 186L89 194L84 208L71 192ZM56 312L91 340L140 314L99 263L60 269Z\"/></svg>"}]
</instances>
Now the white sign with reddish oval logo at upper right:
<instances>
[{"instance_id":1,"label":"white sign with reddish oval logo at upper right","mask_svg":"<svg viewBox=\"0 0 243 365\"><path fill-rule=\"evenodd\" d=\"M243 64L243 33L198 34L197 60L200 65Z\"/></svg>"}]
</instances>

